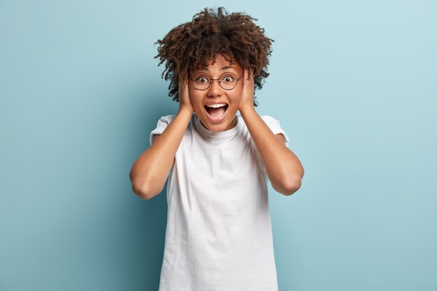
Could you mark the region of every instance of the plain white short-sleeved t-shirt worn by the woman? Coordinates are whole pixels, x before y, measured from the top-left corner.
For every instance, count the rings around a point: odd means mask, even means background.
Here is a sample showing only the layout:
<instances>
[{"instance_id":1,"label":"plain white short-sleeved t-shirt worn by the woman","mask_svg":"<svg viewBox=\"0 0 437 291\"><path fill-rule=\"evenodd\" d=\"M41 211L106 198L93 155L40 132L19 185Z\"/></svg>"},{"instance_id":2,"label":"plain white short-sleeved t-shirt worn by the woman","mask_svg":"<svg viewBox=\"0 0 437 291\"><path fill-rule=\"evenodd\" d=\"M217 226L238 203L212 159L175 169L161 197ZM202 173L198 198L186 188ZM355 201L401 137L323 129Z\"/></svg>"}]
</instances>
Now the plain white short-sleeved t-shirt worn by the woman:
<instances>
[{"instance_id":1,"label":"plain white short-sleeved t-shirt worn by the woman","mask_svg":"<svg viewBox=\"0 0 437 291\"><path fill-rule=\"evenodd\" d=\"M163 133L174 115L150 133ZM168 177L168 220L158 291L277 291L267 173L238 116L212 132L196 114ZM279 121L262 116L274 134Z\"/></svg>"}]
</instances>

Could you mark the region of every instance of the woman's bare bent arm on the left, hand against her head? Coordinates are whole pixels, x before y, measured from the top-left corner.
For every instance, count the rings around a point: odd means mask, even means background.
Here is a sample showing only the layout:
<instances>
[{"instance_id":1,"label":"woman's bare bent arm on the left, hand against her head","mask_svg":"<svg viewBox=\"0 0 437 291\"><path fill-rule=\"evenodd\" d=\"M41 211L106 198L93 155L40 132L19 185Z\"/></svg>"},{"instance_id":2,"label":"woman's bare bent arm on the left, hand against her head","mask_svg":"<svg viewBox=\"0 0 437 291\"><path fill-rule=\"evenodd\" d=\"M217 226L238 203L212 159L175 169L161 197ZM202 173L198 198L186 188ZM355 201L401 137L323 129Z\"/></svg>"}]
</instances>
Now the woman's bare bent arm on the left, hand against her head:
<instances>
[{"instance_id":1,"label":"woman's bare bent arm on the left, hand against her head","mask_svg":"<svg viewBox=\"0 0 437 291\"><path fill-rule=\"evenodd\" d=\"M135 161L129 173L132 191L149 200L163 191L176 151L193 114L186 84L179 83L179 112L161 135L154 135L149 149Z\"/></svg>"}]
</instances>

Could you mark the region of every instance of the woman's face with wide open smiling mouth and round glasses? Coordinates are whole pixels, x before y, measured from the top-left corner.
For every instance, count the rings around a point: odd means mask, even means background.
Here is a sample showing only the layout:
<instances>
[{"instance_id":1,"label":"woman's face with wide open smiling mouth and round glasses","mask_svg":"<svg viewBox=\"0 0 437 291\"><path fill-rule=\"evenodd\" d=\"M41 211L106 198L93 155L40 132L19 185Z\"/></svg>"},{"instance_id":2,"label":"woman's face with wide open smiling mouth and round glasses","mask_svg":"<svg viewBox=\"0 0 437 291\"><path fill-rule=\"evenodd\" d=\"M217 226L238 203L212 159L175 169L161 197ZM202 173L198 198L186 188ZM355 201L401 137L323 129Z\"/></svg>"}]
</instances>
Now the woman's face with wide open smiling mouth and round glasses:
<instances>
[{"instance_id":1,"label":"woman's face with wide open smiling mouth and round glasses","mask_svg":"<svg viewBox=\"0 0 437 291\"><path fill-rule=\"evenodd\" d=\"M223 89L218 84L218 80L212 80L221 78L222 86L228 88L226 86L234 82L232 81L232 75L228 73L233 73L239 79L238 81L235 80L237 84L231 90ZM243 68L239 62L234 60L234 64L231 65L221 54L217 55L214 64L211 64L210 61L209 66L206 68L198 68L190 72L188 91L191 105L193 105L195 114L197 114L205 128L211 131L224 131L235 126L235 115L242 98L242 76ZM208 89L200 91L194 87L194 82L200 87L200 83L208 82L208 80L211 80Z\"/></svg>"}]
</instances>

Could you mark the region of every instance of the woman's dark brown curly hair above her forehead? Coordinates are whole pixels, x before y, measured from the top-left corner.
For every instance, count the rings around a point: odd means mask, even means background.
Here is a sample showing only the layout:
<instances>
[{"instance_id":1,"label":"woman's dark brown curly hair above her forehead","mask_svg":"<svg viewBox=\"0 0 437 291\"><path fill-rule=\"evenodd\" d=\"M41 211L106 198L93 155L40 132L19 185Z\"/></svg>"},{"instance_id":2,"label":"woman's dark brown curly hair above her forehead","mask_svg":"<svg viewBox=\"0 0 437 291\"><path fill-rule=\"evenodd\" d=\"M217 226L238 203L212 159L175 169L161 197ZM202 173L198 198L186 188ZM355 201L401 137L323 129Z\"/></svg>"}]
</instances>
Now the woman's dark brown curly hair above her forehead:
<instances>
[{"instance_id":1,"label":"woman's dark brown curly hair above her forehead","mask_svg":"<svg viewBox=\"0 0 437 291\"><path fill-rule=\"evenodd\" d=\"M158 40L158 66L165 61L165 70L161 77L170 79L168 96L179 102L179 77L182 80L190 71L199 66L213 64L216 55L221 54L233 64L236 59L243 68L253 71L255 90L262 89L266 77L271 45L274 40L267 38L264 29L258 27L256 18L245 13L229 14L225 8L216 11L204 8L193 16L191 22L180 24L171 29L162 40ZM253 100L254 105L258 105Z\"/></svg>"}]
</instances>

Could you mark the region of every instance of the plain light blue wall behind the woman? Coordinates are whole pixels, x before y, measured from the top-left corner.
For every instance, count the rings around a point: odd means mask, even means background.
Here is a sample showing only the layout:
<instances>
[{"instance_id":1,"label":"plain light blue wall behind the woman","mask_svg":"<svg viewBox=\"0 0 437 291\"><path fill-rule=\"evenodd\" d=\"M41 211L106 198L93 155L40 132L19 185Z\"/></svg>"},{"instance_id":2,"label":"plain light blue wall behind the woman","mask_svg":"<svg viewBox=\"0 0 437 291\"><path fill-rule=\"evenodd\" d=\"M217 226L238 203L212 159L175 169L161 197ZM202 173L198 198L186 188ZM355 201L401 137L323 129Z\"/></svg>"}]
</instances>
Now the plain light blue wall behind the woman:
<instances>
[{"instance_id":1,"label":"plain light blue wall behind the woman","mask_svg":"<svg viewBox=\"0 0 437 291\"><path fill-rule=\"evenodd\" d=\"M260 114L279 290L437 290L436 1L0 0L0 290L157 290L165 193L128 173L177 103L156 45L205 6L275 40Z\"/></svg>"}]
</instances>

